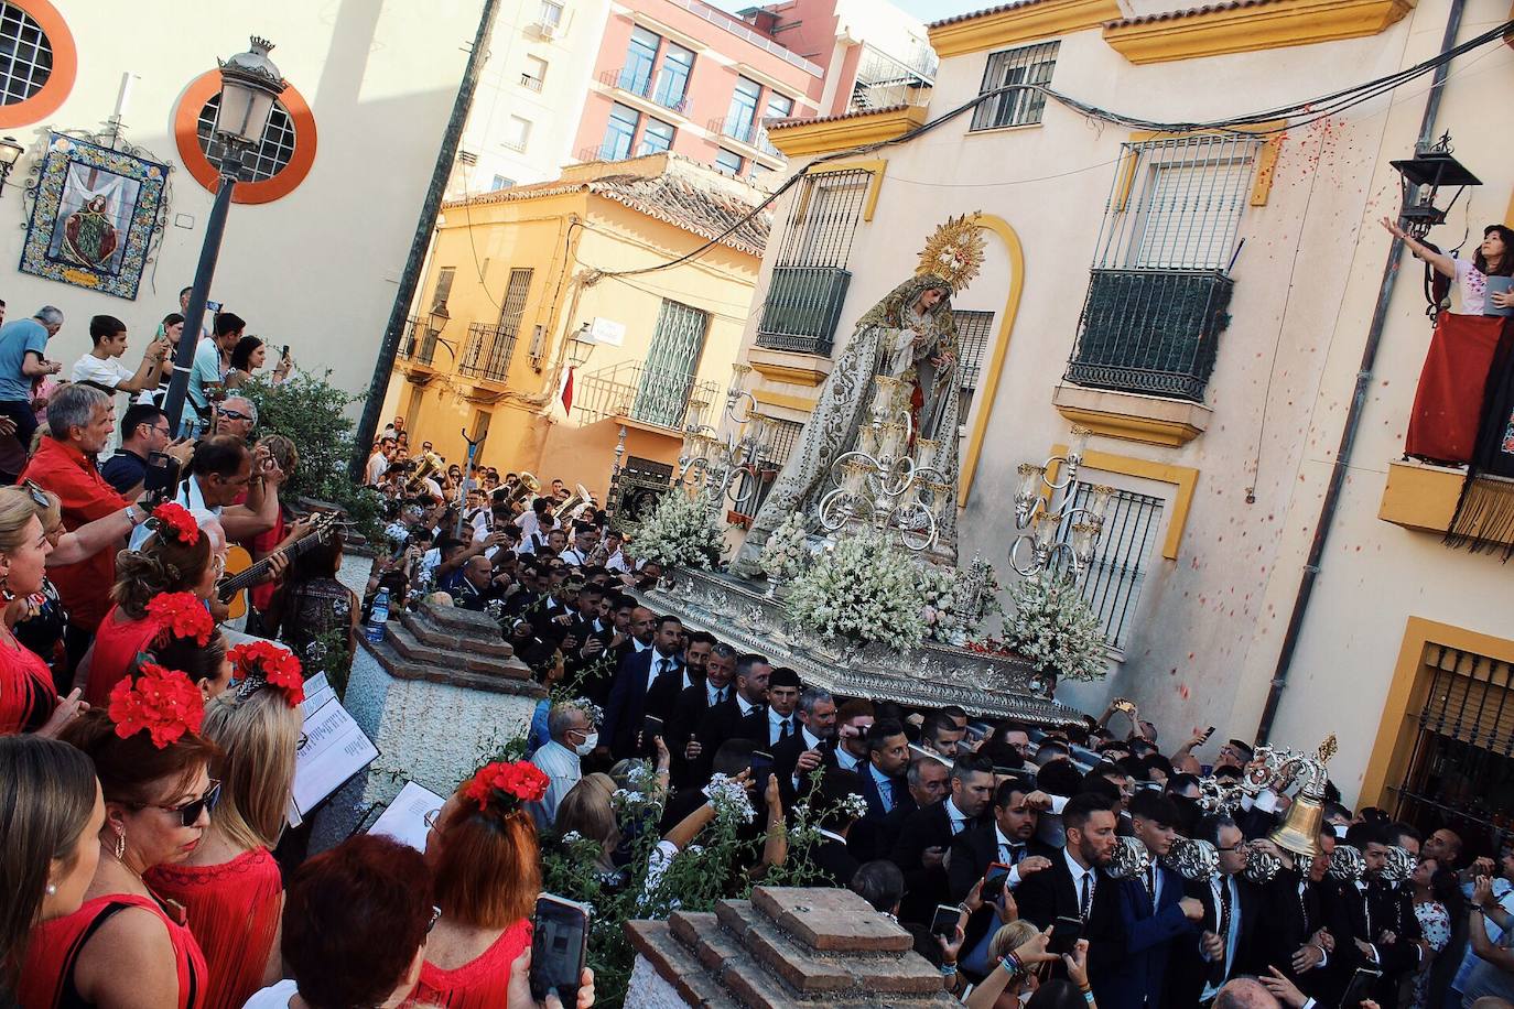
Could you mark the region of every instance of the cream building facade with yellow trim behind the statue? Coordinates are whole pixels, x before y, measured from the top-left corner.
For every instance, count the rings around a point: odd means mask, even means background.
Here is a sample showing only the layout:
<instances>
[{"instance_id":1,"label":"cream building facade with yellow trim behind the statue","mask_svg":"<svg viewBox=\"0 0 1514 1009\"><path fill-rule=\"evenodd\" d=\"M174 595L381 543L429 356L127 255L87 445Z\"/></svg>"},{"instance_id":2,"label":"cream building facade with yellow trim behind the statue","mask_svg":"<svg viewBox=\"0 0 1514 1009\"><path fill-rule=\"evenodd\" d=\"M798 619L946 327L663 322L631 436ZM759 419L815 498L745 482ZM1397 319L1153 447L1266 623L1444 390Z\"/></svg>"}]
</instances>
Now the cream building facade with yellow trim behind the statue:
<instances>
[{"instance_id":1,"label":"cream building facade with yellow trim behind the statue","mask_svg":"<svg viewBox=\"0 0 1514 1009\"><path fill-rule=\"evenodd\" d=\"M1179 14L1155 2L1005 5L931 27L942 64L928 109L792 124L772 138L802 169L1020 80L1146 121L1225 120L1435 56L1450 3L1273 0ZM1508 20L1509 5L1467 0L1463 15L1466 41ZM1482 227L1509 210L1509 112L1488 95L1511 82L1514 53L1503 44L1458 57L1434 127L1450 132L1456 157L1484 183L1431 234L1450 247L1470 228L1469 257ZM1413 156L1429 83L1419 77L1254 139L1155 135L1055 100L1039 115L990 100L910 142L831 160L828 174L774 207L743 343L757 398L802 422L830 371L831 337L843 345L855 319L913 272L937 224L977 215L987 262L954 298L972 387L960 555L990 558L1011 576L1017 466L1057 452L1073 422L1092 427L1078 480L1120 495L1087 591L1116 646L1107 681L1064 684L1058 699L1098 713L1110 697L1132 697L1173 746L1208 725L1219 738L1251 738L1382 281L1390 239L1378 219L1400 206L1388 162ZM830 207L825 225L810 210L818 206ZM1437 755L1481 746L1506 762L1508 737L1494 740L1490 720L1514 660L1509 569L1447 549L1435 531L1458 475L1399 466L1390 490L1431 334L1420 266L1405 260L1272 731L1302 749L1338 734L1332 770L1346 799L1390 808L1403 788L1428 794ZM1188 295L1201 306L1188 316L1175 307L1179 281L1161 286L1173 275L1199 275L1181 281L1202 287ZM816 289L842 295L833 327L824 310L810 313L812 325L769 313ZM1090 319L1116 310L1086 327L1086 304ZM1173 366L1163 354L1176 351L1185 355ZM1437 675L1426 655L1461 673ZM1446 716L1456 690L1488 697L1476 740Z\"/></svg>"}]
</instances>

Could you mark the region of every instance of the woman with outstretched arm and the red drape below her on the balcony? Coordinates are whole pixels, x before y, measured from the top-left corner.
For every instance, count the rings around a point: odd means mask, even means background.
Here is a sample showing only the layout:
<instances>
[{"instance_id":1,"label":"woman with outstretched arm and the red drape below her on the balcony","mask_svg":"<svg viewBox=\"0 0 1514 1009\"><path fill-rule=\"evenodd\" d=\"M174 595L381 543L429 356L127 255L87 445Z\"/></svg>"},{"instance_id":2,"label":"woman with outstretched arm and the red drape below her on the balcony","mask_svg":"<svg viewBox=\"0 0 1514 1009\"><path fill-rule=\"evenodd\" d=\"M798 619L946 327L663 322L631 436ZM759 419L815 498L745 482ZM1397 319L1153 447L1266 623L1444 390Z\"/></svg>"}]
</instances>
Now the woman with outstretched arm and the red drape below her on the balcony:
<instances>
[{"instance_id":1,"label":"woman with outstretched arm and the red drape below her on the balcony","mask_svg":"<svg viewBox=\"0 0 1514 1009\"><path fill-rule=\"evenodd\" d=\"M1496 355L1503 357L1497 352L1508 319L1485 312L1514 309L1509 290L1488 293L1488 277L1514 274L1514 231L1490 224L1476 254L1466 260L1425 245L1390 218L1382 219L1382 227L1456 287L1456 312L1441 312L1435 319L1403 454L1431 463L1467 464L1484 421L1485 399L1497 398L1481 393L1485 386L1491 392L1493 384L1502 384L1502 374L1490 371L1506 369L1493 369L1493 365ZM1506 411L1503 419L1508 421Z\"/></svg>"}]
</instances>

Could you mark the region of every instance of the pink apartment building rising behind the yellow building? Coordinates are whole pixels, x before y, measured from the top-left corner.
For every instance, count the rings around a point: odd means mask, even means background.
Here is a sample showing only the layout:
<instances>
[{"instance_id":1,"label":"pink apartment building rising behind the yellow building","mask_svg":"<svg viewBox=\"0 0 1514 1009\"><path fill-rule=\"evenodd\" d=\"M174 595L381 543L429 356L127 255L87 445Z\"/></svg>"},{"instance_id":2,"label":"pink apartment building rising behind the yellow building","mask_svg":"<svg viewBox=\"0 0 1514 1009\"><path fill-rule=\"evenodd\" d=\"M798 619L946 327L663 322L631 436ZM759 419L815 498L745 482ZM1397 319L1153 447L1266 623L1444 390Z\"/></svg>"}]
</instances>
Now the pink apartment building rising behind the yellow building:
<instances>
[{"instance_id":1,"label":"pink apartment building rising behind the yellow building","mask_svg":"<svg viewBox=\"0 0 1514 1009\"><path fill-rule=\"evenodd\" d=\"M784 163L765 120L924 101L934 70L924 26L878 0L789 0L739 17L701 0L619 0L574 151L619 160L672 150L760 175Z\"/></svg>"}]
</instances>

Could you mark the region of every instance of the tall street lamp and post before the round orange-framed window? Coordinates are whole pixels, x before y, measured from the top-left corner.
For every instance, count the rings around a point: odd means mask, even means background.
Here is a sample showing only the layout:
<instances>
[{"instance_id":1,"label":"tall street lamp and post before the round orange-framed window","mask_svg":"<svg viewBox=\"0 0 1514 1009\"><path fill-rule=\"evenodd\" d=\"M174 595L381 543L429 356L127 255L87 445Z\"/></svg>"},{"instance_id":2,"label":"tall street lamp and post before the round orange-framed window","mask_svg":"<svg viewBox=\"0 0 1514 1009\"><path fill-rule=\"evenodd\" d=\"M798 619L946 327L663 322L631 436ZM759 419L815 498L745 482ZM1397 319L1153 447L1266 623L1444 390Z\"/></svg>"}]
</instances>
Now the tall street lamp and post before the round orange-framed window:
<instances>
[{"instance_id":1,"label":"tall street lamp and post before the round orange-framed window","mask_svg":"<svg viewBox=\"0 0 1514 1009\"><path fill-rule=\"evenodd\" d=\"M204 303L210 296L215 262L221 254L221 236L226 233L226 213L232 207L232 191L242 171L242 154L262 144L274 101L286 86L279 68L268 59L273 42L256 35L251 42L250 51L238 53L220 64L221 103L215 118L215 139L226 148L226 154L221 157L215 203L210 206L204 245L200 247L200 265L195 266L194 287L189 306L185 309L183 336L179 337L179 349L174 352L174 375L164 401L164 413L168 414L171 430L179 428L185 393L189 392L189 369L194 366L195 343L204 322Z\"/></svg>"}]
</instances>

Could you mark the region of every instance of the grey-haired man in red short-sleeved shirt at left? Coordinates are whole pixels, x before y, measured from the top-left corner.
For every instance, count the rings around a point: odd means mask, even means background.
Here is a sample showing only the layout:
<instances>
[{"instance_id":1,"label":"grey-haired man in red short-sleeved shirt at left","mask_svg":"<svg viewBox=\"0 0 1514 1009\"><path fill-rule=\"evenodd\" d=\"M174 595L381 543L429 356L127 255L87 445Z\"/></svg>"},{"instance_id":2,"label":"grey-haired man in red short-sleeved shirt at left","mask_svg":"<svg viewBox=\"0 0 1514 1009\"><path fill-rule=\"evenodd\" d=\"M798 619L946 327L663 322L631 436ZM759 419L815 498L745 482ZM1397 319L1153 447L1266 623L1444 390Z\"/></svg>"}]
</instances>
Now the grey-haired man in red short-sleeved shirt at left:
<instances>
[{"instance_id":1,"label":"grey-haired man in red short-sleeved shirt at left","mask_svg":"<svg viewBox=\"0 0 1514 1009\"><path fill-rule=\"evenodd\" d=\"M89 386L65 386L47 405L47 434L42 436L21 480L30 480L42 490L58 495L64 528L68 531L114 511L127 511L133 525L145 519L145 513L132 504L141 487L129 489L127 496L121 496L104 483L95 466L95 455L104 448L114 427L115 408L111 396ZM115 549L106 548L77 564L53 567L48 572L64 608L68 610L64 649L70 681L100 620L111 608L115 554Z\"/></svg>"}]
</instances>

